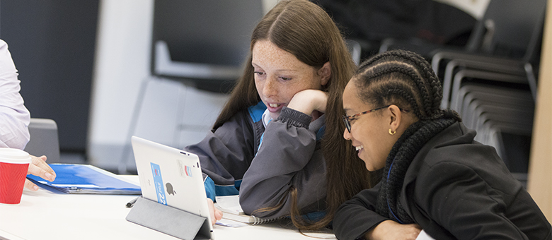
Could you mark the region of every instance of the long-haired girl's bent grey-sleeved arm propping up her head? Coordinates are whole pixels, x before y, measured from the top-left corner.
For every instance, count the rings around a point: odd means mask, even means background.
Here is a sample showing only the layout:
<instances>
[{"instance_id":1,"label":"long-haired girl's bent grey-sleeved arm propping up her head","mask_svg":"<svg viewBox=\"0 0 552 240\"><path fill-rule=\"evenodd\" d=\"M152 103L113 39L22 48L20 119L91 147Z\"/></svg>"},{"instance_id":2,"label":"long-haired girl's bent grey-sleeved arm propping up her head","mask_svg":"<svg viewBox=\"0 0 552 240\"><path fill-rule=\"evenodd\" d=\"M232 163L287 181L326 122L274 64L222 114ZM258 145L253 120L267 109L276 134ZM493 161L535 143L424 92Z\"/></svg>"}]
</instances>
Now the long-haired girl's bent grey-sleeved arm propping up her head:
<instances>
[{"instance_id":1,"label":"long-haired girl's bent grey-sleeved arm propping up her head","mask_svg":"<svg viewBox=\"0 0 552 240\"><path fill-rule=\"evenodd\" d=\"M326 162L317 141L323 121L321 117L311 124L311 116L284 107L278 119L268 124L258 153L243 176L240 204L244 212L279 206L254 215L289 214L292 187L297 189L299 209L324 209L318 202L326 196Z\"/></svg>"}]
</instances>

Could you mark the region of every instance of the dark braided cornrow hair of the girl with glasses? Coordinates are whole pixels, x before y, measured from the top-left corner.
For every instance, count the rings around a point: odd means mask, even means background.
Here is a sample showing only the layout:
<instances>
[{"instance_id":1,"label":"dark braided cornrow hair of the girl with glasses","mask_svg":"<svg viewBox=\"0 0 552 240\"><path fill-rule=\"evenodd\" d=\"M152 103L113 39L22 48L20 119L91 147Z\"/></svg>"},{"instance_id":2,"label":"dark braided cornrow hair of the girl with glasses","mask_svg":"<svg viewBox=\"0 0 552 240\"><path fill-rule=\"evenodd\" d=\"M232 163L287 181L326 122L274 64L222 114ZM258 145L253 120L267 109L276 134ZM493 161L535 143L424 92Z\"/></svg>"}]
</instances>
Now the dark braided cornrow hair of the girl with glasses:
<instances>
[{"instance_id":1,"label":"dark braided cornrow hair of the girl with glasses","mask_svg":"<svg viewBox=\"0 0 552 240\"><path fill-rule=\"evenodd\" d=\"M456 112L441 110L442 88L430 64L419 54L392 50L364 61L353 77L360 98L374 106L396 104L420 120L443 116L461 121Z\"/></svg>"}]
</instances>

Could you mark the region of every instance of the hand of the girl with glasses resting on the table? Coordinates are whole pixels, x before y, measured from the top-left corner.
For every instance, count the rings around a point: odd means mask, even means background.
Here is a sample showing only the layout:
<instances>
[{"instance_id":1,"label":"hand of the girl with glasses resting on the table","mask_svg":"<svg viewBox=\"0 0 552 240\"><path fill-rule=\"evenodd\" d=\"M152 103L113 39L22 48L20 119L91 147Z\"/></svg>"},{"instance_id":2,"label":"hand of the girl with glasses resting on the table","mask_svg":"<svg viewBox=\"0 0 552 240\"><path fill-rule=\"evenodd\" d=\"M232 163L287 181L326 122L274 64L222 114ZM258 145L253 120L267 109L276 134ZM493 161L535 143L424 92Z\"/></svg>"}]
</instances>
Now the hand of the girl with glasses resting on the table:
<instances>
[{"instance_id":1,"label":"hand of the girl with glasses resting on the table","mask_svg":"<svg viewBox=\"0 0 552 240\"><path fill-rule=\"evenodd\" d=\"M418 224L400 224L392 220L380 222L364 236L366 239L408 239L415 240L422 232Z\"/></svg>"}]
</instances>

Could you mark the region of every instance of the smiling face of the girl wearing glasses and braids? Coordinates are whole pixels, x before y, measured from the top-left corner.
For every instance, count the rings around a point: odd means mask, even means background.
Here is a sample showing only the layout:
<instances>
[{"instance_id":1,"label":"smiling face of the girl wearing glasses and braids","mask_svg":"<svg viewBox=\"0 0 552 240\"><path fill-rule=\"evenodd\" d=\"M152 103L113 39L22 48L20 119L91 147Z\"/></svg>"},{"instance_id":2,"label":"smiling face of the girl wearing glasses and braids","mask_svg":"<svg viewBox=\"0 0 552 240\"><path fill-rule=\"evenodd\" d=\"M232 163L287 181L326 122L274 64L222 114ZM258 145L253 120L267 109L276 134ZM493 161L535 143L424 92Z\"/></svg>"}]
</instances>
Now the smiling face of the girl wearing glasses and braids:
<instances>
[{"instance_id":1,"label":"smiling face of the girl wearing glasses and braids","mask_svg":"<svg viewBox=\"0 0 552 240\"><path fill-rule=\"evenodd\" d=\"M357 95L357 87L354 79L350 80L343 92L343 109L347 116L352 116L370 109L381 106L370 106L360 100ZM386 111L381 109L377 111ZM385 116L381 112L371 112L351 119L351 132L343 132L343 138L351 140L353 146L357 148L358 156L369 171L375 171L385 167L385 161L389 151L393 146L393 141L389 139L389 133L386 126Z\"/></svg>"}]
</instances>

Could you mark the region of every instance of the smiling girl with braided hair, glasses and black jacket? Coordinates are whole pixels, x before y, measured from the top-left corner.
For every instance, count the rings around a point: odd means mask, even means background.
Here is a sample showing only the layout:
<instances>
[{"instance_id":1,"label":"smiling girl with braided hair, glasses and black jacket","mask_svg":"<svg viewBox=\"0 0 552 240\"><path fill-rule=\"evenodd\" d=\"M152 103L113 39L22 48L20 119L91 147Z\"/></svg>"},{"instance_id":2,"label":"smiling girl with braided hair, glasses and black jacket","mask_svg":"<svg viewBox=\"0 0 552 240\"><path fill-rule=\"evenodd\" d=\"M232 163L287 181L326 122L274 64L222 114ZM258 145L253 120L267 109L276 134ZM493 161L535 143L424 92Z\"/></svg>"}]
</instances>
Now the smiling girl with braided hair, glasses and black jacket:
<instances>
[{"instance_id":1,"label":"smiling girl with braided hair, glasses and black jacket","mask_svg":"<svg viewBox=\"0 0 552 240\"><path fill-rule=\"evenodd\" d=\"M430 64L407 51L372 57L347 83L343 137L383 176L337 210L338 239L552 239L495 149L441 99Z\"/></svg>"}]
</instances>

